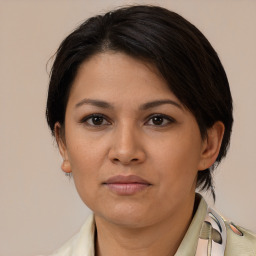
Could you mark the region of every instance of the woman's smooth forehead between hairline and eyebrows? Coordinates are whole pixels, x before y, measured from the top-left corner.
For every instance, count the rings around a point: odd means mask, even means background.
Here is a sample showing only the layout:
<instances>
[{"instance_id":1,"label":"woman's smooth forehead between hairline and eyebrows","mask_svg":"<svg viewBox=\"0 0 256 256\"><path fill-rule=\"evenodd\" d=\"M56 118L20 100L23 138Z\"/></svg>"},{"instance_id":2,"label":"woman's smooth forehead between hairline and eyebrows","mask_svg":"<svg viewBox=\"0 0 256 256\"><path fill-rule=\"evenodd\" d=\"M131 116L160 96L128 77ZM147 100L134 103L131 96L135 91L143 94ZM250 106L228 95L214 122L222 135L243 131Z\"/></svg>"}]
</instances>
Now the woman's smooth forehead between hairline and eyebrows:
<instances>
[{"instance_id":1,"label":"woman's smooth forehead between hairline and eyebrows","mask_svg":"<svg viewBox=\"0 0 256 256\"><path fill-rule=\"evenodd\" d=\"M131 104L159 97L178 101L154 65L120 52L99 53L81 64L70 101L83 97Z\"/></svg>"}]
</instances>

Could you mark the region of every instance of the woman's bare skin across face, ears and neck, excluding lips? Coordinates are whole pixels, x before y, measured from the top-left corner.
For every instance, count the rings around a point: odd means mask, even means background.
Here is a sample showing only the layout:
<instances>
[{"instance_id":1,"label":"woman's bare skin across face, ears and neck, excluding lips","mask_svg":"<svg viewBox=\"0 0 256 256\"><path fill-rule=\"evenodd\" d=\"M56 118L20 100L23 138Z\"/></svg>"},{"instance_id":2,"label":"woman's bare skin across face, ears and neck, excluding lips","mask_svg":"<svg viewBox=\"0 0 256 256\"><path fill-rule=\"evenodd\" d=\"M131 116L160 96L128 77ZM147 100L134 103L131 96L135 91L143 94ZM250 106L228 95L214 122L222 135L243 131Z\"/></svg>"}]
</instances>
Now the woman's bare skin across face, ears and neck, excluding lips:
<instances>
[{"instance_id":1,"label":"woman's bare skin across face, ears and neck, excluding lips","mask_svg":"<svg viewBox=\"0 0 256 256\"><path fill-rule=\"evenodd\" d=\"M161 100L171 102L142 108ZM174 255L191 222L198 170L214 163L223 124L202 140L195 117L152 65L107 52L81 65L64 136L60 129L56 123L62 169L72 172L95 214L97 255ZM137 175L150 185L116 193L104 184L115 175Z\"/></svg>"}]
</instances>

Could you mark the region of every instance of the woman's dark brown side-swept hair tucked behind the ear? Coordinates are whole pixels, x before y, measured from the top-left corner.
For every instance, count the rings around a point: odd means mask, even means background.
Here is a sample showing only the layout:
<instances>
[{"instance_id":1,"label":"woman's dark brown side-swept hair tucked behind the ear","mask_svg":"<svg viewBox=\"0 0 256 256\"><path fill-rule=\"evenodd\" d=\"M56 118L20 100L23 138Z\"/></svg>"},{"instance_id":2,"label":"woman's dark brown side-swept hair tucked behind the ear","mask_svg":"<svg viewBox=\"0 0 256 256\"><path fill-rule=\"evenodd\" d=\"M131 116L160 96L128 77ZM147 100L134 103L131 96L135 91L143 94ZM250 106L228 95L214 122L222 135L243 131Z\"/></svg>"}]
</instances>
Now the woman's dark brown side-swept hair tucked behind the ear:
<instances>
[{"instance_id":1,"label":"woman's dark brown side-swept hair tucked behind the ear","mask_svg":"<svg viewBox=\"0 0 256 256\"><path fill-rule=\"evenodd\" d=\"M216 121L225 133L215 164L198 172L197 187L210 189L212 171L226 155L233 123L226 73L205 36L175 12L158 6L130 6L89 18L61 43L52 67L46 117L64 125L72 82L82 62L105 51L123 52L157 67L170 90L195 116L201 136Z\"/></svg>"}]
</instances>

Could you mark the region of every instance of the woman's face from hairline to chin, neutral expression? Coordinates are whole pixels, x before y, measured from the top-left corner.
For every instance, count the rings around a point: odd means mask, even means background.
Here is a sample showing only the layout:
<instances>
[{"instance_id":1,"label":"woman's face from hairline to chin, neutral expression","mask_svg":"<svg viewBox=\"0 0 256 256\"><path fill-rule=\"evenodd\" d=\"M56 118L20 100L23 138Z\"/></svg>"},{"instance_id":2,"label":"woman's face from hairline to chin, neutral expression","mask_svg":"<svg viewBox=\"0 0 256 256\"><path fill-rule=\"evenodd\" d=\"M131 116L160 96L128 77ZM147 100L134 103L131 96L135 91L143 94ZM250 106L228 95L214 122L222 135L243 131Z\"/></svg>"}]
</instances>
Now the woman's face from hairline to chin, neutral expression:
<instances>
[{"instance_id":1,"label":"woman's face from hairline to chin, neutral expression","mask_svg":"<svg viewBox=\"0 0 256 256\"><path fill-rule=\"evenodd\" d=\"M80 197L119 225L151 225L186 209L204 169L194 116L154 67L122 53L82 64L63 141L63 170L72 171Z\"/></svg>"}]
</instances>

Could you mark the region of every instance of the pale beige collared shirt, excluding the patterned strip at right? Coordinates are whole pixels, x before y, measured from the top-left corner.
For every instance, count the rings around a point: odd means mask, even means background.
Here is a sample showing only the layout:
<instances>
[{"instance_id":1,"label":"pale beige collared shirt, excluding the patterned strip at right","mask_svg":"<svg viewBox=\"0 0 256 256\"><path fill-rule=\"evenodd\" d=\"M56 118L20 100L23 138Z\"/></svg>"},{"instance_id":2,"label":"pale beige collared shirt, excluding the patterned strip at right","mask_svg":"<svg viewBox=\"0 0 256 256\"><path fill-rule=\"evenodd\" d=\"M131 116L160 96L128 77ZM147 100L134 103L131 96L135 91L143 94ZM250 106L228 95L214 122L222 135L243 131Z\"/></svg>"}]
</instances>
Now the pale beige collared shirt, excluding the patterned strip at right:
<instances>
[{"instance_id":1,"label":"pale beige collared shirt, excluding the patterned strip at right","mask_svg":"<svg viewBox=\"0 0 256 256\"><path fill-rule=\"evenodd\" d=\"M194 256L197 249L198 238L204 222L207 203L201 197L198 209L174 256ZM235 234L225 221L227 228L227 246L225 256L256 256L256 235L243 228L243 236ZM95 222L91 214L80 232L64 244L51 256L95 256L94 254Z\"/></svg>"}]
</instances>

